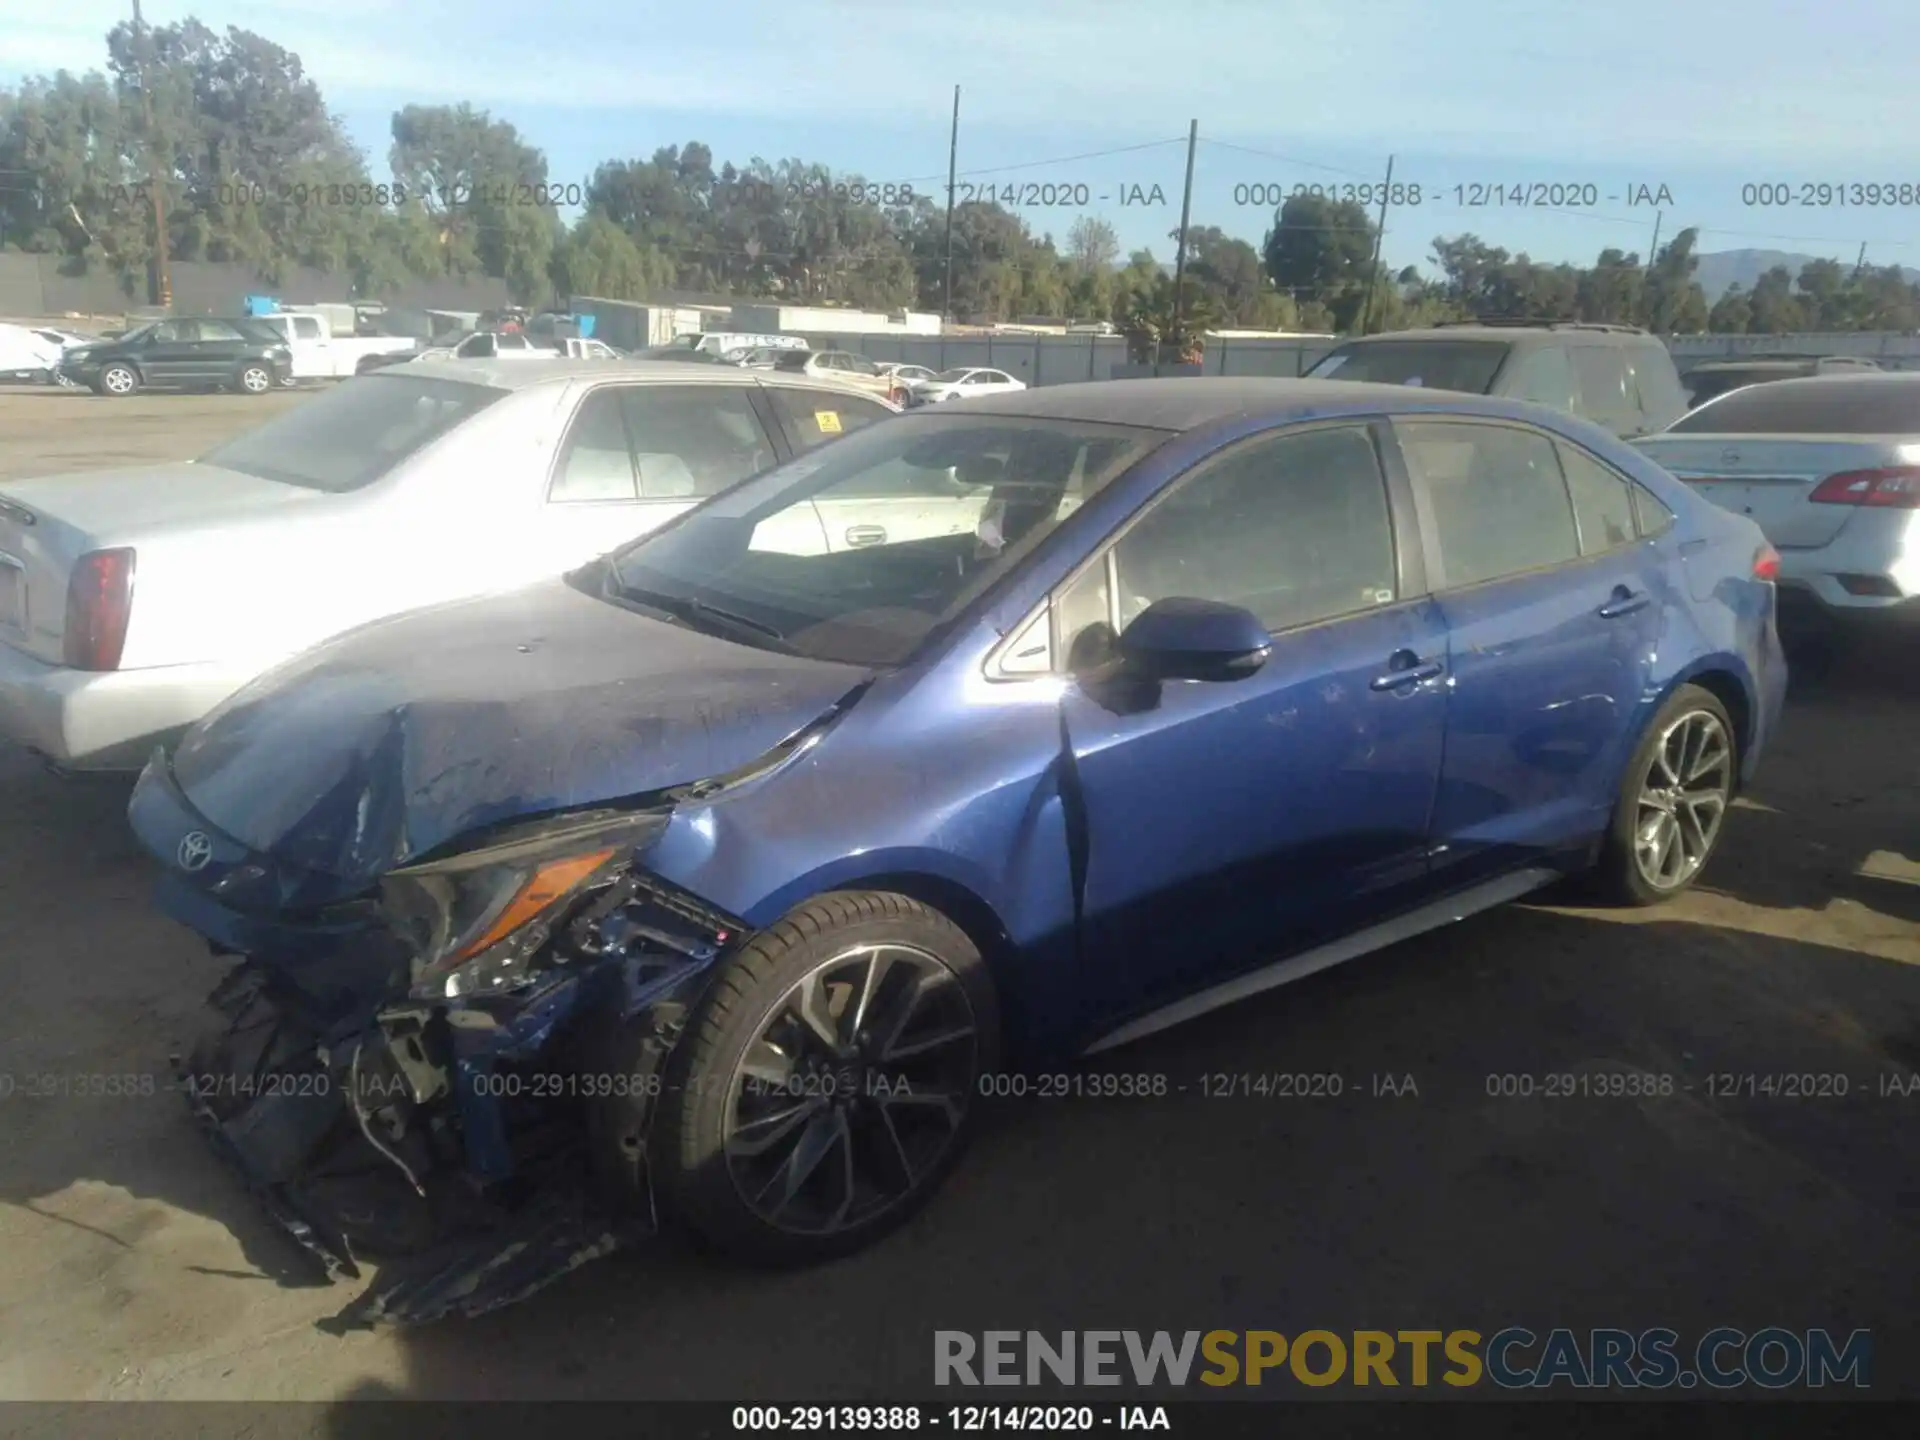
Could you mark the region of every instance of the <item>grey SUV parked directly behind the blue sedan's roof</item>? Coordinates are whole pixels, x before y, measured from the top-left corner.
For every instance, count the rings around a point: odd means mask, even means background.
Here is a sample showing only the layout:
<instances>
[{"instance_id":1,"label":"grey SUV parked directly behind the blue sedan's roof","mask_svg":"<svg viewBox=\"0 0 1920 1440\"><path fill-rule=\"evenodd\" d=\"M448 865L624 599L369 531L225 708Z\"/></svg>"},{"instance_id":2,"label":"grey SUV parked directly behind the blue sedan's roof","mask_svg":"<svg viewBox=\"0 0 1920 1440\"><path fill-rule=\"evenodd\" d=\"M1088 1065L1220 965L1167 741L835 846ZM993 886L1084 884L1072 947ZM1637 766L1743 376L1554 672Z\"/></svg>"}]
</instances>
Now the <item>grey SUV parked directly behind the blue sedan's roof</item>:
<instances>
[{"instance_id":1,"label":"grey SUV parked directly behind the blue sedan's roof","mask_svg":"<svg viewBox=\"0 0 1920 1440\"><path fill-rule=\"evenodd\" d=\"M1572 411L1622 440L1686 415L1661 338L1630 324L1440 324L1363 336L1325 355L1317 380L1463 390Z\"/></svg>"}]
</instances>

